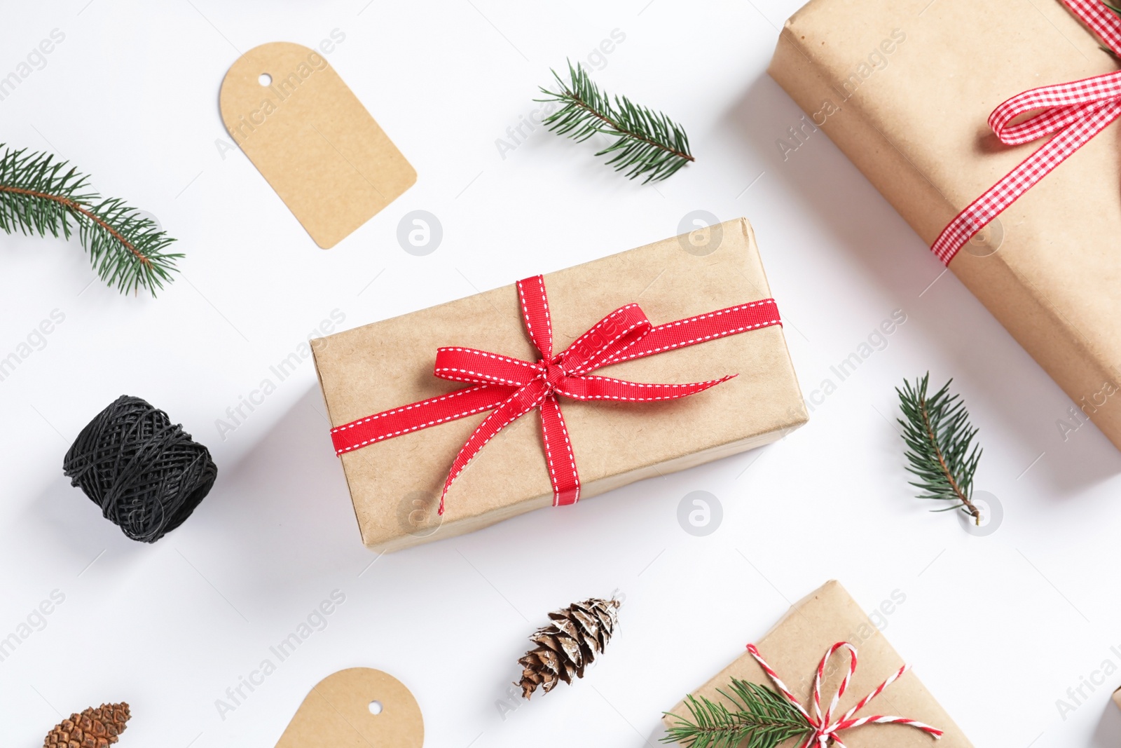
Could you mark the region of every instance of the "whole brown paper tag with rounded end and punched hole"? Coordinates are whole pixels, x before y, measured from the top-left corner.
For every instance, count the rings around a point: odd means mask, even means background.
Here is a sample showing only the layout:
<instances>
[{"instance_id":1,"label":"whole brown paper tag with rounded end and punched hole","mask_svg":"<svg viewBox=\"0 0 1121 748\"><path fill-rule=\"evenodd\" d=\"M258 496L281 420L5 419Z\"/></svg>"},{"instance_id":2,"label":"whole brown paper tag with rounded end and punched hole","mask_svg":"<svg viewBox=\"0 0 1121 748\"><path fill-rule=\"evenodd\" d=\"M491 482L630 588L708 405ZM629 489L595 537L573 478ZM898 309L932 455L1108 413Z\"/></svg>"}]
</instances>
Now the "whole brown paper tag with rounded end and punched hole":
<instances>
[{"instance_id":1,"label":"whole brown paper tag with rounded end and punched hole","mask_svg":"<svg viewBox=\"0 0 1121 748\"><path fill-rule=\"evenodd\" d=\"M250 49L225 74L219 107L234 142L324 249L417 181L314 49L288 41Z\"/></svg>"}]
</instances>

